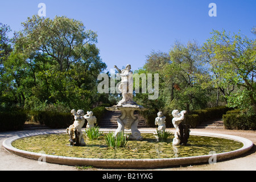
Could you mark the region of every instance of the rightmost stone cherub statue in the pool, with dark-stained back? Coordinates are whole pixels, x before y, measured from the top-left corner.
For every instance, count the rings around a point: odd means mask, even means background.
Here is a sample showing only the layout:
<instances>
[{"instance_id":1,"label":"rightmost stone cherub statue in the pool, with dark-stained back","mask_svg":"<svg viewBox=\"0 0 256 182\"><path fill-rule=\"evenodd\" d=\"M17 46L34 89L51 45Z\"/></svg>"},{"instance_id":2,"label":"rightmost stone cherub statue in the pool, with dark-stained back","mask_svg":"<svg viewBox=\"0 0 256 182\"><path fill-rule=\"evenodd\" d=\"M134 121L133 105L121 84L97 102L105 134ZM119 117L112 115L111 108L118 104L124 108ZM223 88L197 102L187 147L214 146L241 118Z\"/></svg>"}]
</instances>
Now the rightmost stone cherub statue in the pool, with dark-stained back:
<instances>
[{"instance_id":1,"label":"rightmost stone cherub statue in the pool, with dark-stained back","mask_svg":"<svg viewBox=\"0 0 256 182\"><path fill-rule=\"evenodd\" d=\"M179 113L179 110L172 111L172 124L174 125L176 131L174 134L173 145L183 144L186 145L189 138L189 125L184 122L185 114L187 111L183 110Z\"/></svg>"}]
</instances>

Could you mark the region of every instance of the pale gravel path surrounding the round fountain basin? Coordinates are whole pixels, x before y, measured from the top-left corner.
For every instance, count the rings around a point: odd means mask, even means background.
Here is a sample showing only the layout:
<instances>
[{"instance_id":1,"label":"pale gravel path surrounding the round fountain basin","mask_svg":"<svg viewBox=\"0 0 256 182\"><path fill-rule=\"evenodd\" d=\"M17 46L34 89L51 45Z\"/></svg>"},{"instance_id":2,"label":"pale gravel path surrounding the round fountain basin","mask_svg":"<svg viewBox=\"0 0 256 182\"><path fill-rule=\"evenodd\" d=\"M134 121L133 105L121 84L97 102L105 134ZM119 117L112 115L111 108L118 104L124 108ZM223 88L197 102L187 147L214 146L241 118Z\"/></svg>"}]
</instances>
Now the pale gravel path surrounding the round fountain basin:
<instances>
[{"instance_id":1,"label":"pale gravel path surrounding the round fountain basin","mask_svg":"<svg viewBox=\"0 0 256 182\"><path fill-rule=\"evenodd\" d=\"M155 129L139 129L141 131L154 131ZM236 135L239 137L247 138L254 143L253 148L246 154L243 154L239 157L218 161L216 164L201 164L193 166L181 166L181 167L172 167L172 168L163 168L163 169L154 169L161 171L214 171L214 170L229 170L229 171L255 171L256 170L256 131L242 131L242 130L218 130L218 129L191 129L192 131L201 131L209 133L220 133L228 135ZM3 148L2 143L6 138L13 137L15 135L34 133L40 131L49 131L49 130L24 130L24 131L9 131L9 132L0 132L0 171L77 171L76 167L72 166L63 166L59 164L49 164L49 163L38 163L36 160L22 158L20 156L11 154ZM89 170L105 170L97 168L89 168ZM109 169L108 169L109 170ZM115 169L116 170L116 169ZM126 169L127 170L127 169ZM152 169L150 169L152 170ZM120 171L118 169L118 171Z\"/></svg>"}]
</instances>

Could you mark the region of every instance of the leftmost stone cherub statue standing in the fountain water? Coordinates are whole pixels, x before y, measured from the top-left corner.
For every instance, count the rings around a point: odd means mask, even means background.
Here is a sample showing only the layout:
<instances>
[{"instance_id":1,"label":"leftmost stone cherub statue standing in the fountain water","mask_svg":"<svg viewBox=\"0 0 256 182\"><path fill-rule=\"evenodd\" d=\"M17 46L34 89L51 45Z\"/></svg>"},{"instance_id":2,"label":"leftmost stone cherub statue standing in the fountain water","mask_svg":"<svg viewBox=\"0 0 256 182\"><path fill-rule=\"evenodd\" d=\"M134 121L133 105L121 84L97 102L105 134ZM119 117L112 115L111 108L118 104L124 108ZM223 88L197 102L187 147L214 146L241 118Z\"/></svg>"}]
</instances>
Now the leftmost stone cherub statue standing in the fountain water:
<instances>
[{"instance_id":1,"label":"leftmost stone cherub statue standing in the fountain water","mask_svg":"<svg viewBox=\"0 0 256 182\"><path fill-rule=\"evenodd\" d=\"M84 118L84 110L71 110L71 113L74 115L75 121L73 125L67 128L67 134L69 134L69 141L72 146L85 146L83 134L82 134L82 126L84 126L85 118Z\"/></svg>"}]
</instances>

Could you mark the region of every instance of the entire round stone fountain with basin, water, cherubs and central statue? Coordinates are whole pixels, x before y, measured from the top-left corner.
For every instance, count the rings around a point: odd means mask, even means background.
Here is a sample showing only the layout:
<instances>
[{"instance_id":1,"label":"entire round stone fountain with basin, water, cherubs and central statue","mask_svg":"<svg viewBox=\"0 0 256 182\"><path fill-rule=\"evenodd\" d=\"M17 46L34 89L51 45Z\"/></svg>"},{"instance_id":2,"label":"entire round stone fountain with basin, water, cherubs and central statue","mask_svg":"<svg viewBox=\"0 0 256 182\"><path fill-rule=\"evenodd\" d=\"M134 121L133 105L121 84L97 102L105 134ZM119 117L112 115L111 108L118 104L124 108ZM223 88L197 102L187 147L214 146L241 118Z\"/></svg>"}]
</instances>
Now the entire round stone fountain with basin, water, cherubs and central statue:
<instances>
[{"instance_id":1,"label":"entire round stone fountain with basin, water, cherubs and central statue","mask_svg":"<svg viewBox=\"0 0 256 182\"><path fill-rule=\"evenodd\" d=\"M83 110L71 111L75 121L65 131L50 130L17 135L6 139L3 142L3 147L7 151L26 158L39 160L43 157L44 161L48 163L100 168L156 168L210 163L213 158L217 160L232 158L249 151L253 147L250 140L242 137L190 132L189 125L185 122L186 111L179 113L178 110L172 111L174 116L172 123L175 127L172 142L171 140L158 142L154 137L154 131L147 130L147 132L141 134L141 131L138 130L139 120L138 117L134 116L134 111L147 109L133 101L133 77L130 69L130 65L127 65L122 71L117 68L118 75L122 78L119 85L122 100L117 105L106 107L110 111L121 111L121 115L117 119L118 128L115 130L115 136L125 129L131 130L130 139L132 140L129 141L127 147L112 150L106 146L102 139L97 141L84 140L81 127L84 125L85 119L88 121L86 128L90 128L94 126L96 118L93 117L92 112L87 112L84 115ZM162 112L159 112L155 119L158 130L166 131L165 123L166 117ZM66 143L68 137L70 144ZM189 137L189 146L187 146ZM217 142L214 142L215 140ZM202 146L204 146L204 149L201 148ZM227 146L230 146L231 149L226 148ZM35 148L35 150L31 148ZM42 156L40 150L49 151L44 152ZM218 152L215 152L217 150Z\"/></svg>"}]
</instances>

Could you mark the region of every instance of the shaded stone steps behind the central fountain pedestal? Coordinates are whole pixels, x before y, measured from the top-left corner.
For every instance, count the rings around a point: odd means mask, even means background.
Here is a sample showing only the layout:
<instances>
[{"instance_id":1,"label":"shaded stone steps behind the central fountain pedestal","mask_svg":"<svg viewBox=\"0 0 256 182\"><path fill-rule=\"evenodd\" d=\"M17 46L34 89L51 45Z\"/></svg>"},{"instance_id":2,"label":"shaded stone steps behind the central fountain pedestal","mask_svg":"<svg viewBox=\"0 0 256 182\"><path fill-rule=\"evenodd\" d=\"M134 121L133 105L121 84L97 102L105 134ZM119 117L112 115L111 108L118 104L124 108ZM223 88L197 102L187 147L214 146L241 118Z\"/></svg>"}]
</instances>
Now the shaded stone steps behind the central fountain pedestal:
<instances>
[{"instance_id":1,"label":"shaded stone steps behind the central fountain pedestal","mask_svg":"<svg viewBox=\"0 0 256 182\"><path fill-rule=\"evenodd\" d=\"M100 126L102 129L108 128L108 129L117 129L117 118L121 115L121 111L109 111L107 110L104 114L103 119L100 119L97 121L98 126ZM146 122L144 121L144 118L141 117L137 112L134 113L135 117L139 117L139 124L138 128L141 127L147 127Z\"/></svg>"}]
</instances>

